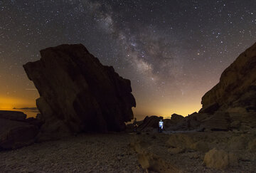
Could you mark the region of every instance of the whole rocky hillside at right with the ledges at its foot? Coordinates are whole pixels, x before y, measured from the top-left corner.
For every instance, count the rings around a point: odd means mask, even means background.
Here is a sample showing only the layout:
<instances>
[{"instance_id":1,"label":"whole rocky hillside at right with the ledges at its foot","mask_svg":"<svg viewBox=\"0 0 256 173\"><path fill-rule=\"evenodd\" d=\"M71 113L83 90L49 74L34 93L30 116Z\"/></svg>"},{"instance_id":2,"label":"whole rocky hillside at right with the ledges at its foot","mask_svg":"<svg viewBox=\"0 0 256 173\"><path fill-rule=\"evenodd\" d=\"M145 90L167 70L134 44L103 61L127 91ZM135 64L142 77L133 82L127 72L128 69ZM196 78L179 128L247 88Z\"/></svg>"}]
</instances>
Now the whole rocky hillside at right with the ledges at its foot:
<instances>
[{"instance_id":1,"label":"whole rocky hillside at right with the ledges at its foot","mask_svg":"<svg viewBox=\"0 0 256 173\"><path fill-rule=\"evenodd\" d=\"M174 114L164 120L165 129L248 131L256 127L256 43L224 70L220 82L203 95L202 105L198 113Z\"/></svg>"}]
</instances>

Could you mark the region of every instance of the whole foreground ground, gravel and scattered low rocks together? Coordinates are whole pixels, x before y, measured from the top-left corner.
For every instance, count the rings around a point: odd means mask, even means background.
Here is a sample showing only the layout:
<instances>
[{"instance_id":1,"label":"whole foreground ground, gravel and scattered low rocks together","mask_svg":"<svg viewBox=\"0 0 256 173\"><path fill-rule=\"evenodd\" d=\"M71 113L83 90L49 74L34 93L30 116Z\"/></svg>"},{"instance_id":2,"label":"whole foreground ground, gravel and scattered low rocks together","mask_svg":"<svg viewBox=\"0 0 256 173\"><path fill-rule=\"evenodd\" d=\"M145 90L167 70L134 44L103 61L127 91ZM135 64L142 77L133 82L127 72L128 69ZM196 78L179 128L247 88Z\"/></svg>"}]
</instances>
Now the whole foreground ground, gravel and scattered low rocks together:
<instances>
[{"instance_id":1,"label":"whole foreground ground, gravel and scattered low rocks together","mask_svg":"<svg viewBox=\"0 0 256 173\"><path fill-rule=\"evenodd\" d=\"M1 172L255 172L250 141L256 133L115 132L80 134L0 152ZM255 147L255 146L254 146ZM206 167L206 153L216 148L228 165ZM211 156L219 159L218 156ZM225 162L225 160L221 161ZM220 168L218 168L220 166ZM216 168L217 167L217 168Z\"/></svg>"}]
</instances>

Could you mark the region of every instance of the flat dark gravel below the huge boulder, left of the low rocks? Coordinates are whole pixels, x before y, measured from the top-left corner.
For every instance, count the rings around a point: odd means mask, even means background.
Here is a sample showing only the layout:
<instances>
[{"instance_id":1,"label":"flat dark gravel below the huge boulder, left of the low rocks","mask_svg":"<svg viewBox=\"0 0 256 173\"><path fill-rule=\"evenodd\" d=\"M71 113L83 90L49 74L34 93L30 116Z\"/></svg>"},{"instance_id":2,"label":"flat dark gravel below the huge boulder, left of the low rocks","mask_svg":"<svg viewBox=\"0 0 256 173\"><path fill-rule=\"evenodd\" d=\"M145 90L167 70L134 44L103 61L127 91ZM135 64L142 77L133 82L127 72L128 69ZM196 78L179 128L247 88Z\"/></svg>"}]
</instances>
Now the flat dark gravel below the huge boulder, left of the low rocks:
<instances>
[{"instance_id":1,"label":"flat dark gravel below the huge boulder, left of the low rocks","mask_svg":"<svg viewBox=\"0 0 256 173\"><path fill-rule=\"evenodd\" d=\"M133 135L82 134L0 152L0 172L144 172Z\"/></svg>"}]
</instances>

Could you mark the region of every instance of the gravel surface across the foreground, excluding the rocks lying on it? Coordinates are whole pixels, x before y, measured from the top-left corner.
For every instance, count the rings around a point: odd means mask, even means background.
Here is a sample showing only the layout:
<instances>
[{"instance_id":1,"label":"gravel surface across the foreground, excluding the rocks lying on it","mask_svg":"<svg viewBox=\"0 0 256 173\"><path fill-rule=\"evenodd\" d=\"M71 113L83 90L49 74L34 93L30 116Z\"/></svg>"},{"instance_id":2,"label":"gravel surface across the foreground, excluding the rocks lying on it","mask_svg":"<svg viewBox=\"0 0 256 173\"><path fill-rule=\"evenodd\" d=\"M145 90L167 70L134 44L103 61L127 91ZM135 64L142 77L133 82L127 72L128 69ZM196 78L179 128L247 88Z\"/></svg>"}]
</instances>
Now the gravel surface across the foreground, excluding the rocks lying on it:
<instances>
[{"instance_id":1,"label":"gravel surface across the foreground, excluding the rocks lying on it","mask_svg":"<svg viewBox=\"0 0 256 173\"><path fill-rule=\"evenodd\" d=\"M189 133L208 141L211 148L228 151L233 133ZM238 136L240 136L238 134ZM169 161L182 172L255 172L256 155L247 150L232 150L238 165L225 170L209 169L203 164L204 152L188 151L170 154L166 140L170 135L146 134L81 134L65 140L36 143L18 150L0 152L2 172L145 172L139 165L137 153L130 142L139 139L148 144L151 152ZM199 139L198 138L198 139ZM247 137L252 138L250 136ZM218 140L217 140L218 139ZM216 140L216 141L215 141ZM151 171L149 171L152 173Z\"/></svg>"}]
</instances>

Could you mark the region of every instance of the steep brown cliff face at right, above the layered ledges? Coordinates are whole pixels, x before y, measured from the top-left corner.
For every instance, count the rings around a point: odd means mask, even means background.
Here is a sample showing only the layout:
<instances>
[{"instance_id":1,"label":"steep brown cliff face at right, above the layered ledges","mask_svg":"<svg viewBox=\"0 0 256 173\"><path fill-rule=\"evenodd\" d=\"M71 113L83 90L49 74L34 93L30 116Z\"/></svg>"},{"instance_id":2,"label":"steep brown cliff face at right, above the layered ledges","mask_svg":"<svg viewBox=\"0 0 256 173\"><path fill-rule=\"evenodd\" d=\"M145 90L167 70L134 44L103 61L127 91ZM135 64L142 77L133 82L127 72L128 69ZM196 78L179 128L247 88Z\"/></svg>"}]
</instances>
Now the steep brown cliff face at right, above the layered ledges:
<instances>
[{"instance_id":1,"label":"steep brown cliff face at right, above the layered ledges","mask_svg":"<svg viewBox=\"0 0 256 173\"><path fill-rule=\"evenodd\" d=\"M228 108L256 108L256 43L224 70L220 82L202 98L200 112L213 113Z\"/></svg>"}]
</instances>

